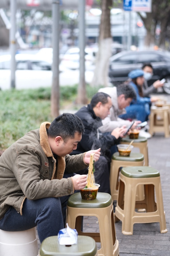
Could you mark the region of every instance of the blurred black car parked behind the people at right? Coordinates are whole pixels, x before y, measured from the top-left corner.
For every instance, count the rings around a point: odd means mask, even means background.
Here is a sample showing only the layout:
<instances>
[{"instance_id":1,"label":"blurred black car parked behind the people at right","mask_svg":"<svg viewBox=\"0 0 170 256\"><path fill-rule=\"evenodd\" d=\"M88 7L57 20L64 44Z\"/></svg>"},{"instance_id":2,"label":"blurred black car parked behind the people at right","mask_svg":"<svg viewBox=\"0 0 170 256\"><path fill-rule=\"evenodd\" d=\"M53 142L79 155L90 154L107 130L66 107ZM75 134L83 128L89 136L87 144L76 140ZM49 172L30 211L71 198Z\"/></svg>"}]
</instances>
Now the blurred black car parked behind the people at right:
<instances>
[{"instance_id":1,"label":"blurred black car parked behind the people at right","mask_svg":"<svg viewBox=\"0 0 170 256\"><path fill-rule=\"evenodd\" d=\"M140 69L144 63L153 66L152 79L148 81L150 86L156 80L166 79L163 90L170 94L170 53L168 51L122 51L110 58L109 79L113 84L124 82L128 79L128 73L133 69Z\"/></svg>"}]
</instances>

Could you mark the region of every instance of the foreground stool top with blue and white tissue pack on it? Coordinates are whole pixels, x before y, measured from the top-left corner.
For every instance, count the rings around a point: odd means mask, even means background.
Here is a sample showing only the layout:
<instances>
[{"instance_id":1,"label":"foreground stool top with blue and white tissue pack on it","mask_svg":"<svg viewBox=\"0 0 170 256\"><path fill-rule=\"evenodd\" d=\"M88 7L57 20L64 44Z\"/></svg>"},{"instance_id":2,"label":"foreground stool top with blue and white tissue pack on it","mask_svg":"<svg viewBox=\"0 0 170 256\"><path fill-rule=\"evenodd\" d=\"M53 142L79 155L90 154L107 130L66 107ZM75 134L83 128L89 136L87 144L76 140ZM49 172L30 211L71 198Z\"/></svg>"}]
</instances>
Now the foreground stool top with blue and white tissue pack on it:
<instances>
[{"instance_id":1,"label":"foreground stool top with blue and white tissue pack on it","mask_svg":"<svg viewBox=\"0 0 170 256\"><path fill-rule=\"evenodd\" d=\"M39 256L97 256L97 246L93 238L78 236L77 244L61 245L58 236L50 236L41 244Z\"/></svg>"}]
</instances>

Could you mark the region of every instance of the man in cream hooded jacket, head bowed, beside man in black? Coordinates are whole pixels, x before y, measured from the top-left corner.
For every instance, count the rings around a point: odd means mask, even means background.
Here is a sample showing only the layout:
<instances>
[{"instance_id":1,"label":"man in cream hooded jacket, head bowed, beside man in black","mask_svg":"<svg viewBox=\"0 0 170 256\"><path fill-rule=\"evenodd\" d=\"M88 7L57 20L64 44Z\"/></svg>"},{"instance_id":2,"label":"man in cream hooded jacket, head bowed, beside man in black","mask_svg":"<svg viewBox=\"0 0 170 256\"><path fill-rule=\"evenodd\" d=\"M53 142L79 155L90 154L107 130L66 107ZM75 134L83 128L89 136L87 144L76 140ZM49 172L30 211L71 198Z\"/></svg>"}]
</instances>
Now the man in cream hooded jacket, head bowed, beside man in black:
<instances>
[{"instance_id":1,"label":"man in cream hooded jacket, head bowed, beside man in black","mask_svg":"<svg viewBox=\"0 0 170 256\"><path fill-rule=\"evenodd\" d=\"M136 100L136 92L133 87L129 84L121 84L117 87L100 88L98 92L109 94L112 100L110 114L102 120L102 126L99 127L100 131L102 133L112 132L113 129L122 125L128 127L131 121L121 119L118 115L126 113L125 108L130 105L133 99ZM138 123L141 121L135 121L131 129L135 129Z\"/></svg>"}]
</instances>

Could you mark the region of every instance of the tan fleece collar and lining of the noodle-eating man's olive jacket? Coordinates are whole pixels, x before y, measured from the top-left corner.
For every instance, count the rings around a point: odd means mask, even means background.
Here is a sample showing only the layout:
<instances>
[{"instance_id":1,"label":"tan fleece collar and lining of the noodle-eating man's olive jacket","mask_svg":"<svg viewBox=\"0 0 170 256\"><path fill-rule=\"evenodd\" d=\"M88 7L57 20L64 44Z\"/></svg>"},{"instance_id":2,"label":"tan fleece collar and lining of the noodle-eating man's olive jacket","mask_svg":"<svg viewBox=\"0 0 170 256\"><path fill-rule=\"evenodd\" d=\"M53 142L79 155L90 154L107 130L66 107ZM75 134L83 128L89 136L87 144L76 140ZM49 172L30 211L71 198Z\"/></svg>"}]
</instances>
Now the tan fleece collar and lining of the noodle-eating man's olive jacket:
<instances>
[{"instance_id":1,"label":"tan fleece collar and lining of the noodle-eating man's olive jacket","mask_svg":"<svg viewBox=\"0 0 170 256\"><path fill-rule=\"evenodd\" d=\"M40 126L40 144L42 146L44 153L46 154L46 157L52 157L54 159L54 161L56 162L56 160L53 156L53 153L51 151L49 141L48 141L48 136L47 136L46 130L49 127L50 127L49 122L44 122L41 124L41 126ZM58 161L57 172L55 172L56 164L54 164L52 179L62 179L64 171L65 171L65 157L57 156L57 161Z\"/></svg>"}]
</instances>

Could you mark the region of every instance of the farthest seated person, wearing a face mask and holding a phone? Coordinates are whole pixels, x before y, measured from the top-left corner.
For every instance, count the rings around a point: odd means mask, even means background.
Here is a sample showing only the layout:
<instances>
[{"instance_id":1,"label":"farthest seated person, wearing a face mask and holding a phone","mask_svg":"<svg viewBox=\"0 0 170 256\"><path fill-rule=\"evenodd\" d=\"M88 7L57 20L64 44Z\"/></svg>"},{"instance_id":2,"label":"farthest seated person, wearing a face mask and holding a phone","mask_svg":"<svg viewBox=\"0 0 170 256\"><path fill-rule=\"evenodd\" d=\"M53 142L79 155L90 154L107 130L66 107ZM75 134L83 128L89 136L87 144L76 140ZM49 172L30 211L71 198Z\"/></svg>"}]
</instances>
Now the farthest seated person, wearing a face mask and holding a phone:
<instances>
[{"instance_id":1,"label":"farthest seated person, wearing a face mask and holding a phone","mask_svg":"<svg viewBox=\"0 0 170 256\"><path fill-rule=\"evenodd\" d=\"M144 83L143 83L143 97L150 97L151 93L156 93L157 89L159 87L162 87L164 83L162 83L160 80L156 80L151 86L148 86L148 80L150 80L153 76L153 67L150 63L145 63L142 67L142 70L144 72Z\"/></svg>"}]
</instances>

